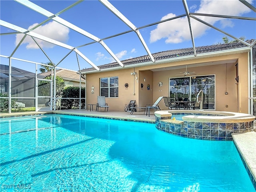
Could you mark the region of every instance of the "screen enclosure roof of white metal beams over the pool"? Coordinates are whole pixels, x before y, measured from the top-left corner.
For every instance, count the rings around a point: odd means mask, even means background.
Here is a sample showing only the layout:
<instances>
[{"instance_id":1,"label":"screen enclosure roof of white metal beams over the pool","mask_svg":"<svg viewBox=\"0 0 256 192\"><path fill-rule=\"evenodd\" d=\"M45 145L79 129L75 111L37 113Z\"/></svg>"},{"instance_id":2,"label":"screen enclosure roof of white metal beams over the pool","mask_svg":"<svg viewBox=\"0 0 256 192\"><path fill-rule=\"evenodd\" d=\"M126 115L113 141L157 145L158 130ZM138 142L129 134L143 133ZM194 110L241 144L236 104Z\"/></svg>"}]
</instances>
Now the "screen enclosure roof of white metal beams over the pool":
<instances>
[{"instance_id":1,"label":"screen enclosure roof of white metal beams over the pool","mask_svg":"<svg viewBox=\"0 0 256 192\"><path fill-rule=\"evenodd\" d=\"M130 58L146 55L150 58L150 62L154 63L156 61L153 53L192 47L193 55L196 57L197 46L218 44L224 36L252 47L255 41L246 41L246 39L256 39L256 8L253 5L255 2L226 1L230 2L230 11L222 2L1 0L1 58L39 64L52 62L58 67L62 67L62 63L65 63L67 58L72 58L72 62L68 61L69 65L63 64L64 68L76 70L73 67L76 65L77 70L90 67L100 70L98 66L114 62L117 62L120 68L129 67L124 66L120 56L127 54L129 49L130 52L139 54L133 54ZM234 2L240 7L240 11L232 11L235 9L232 7ZM195 3L200 4L197 9L193 8ZM133 8L129 9L130 6ZM164 9L168 6L169 12ZM207 6L212 8L209 9ZM94 9L95 15L86 14L88 9ZM141 14L142 10L143 14ZM220 11L215 13L209 10ZM233 21L238 23L230 30ZM54 23L58 23L58 27L53 25ZM231 23L230 28L226 30L225 25L229 23ZM45 26L51 24L50 34L47 33ZM70 33L66 39L62 39L61 32L65 30ZM246 36L248 30L254 31L251 33L252 36L251 34L248 34L249 37ZM208 35L207 41L205 41L206 35ZM200 39L202 36L204 40ZM241 36L246 39L241 40ZM15 37L15 42L11 37ZM7 46L8 44L12 46ZM99 51L90 52L91 46L92 49L98 48ZM21 49L23 51L20 51ZM46 60L34 60L32 56L35 50L39 51ZM24 52L28 53L27 57ZM58 57L56 57L57 53ZM98 56L96 59L93 58L95 55ZM107 59L102 59L104 56Z\"/></svg>"}]
</instances>

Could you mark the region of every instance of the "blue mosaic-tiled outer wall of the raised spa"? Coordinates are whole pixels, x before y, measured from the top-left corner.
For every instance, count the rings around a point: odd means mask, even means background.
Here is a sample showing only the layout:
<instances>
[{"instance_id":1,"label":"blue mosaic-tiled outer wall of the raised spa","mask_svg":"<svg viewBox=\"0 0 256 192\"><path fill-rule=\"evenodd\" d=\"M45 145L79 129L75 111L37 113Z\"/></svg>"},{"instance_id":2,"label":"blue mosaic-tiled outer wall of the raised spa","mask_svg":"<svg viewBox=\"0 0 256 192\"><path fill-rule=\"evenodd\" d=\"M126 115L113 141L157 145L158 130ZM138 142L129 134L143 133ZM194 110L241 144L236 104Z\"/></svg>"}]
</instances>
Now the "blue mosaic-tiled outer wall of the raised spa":
<instances>
[{"instance_id":1,"label":"blue mosaic-tiled outer wall of the raised spa","mask_svg":"<svg viewBox=\"0 0 256 192\"><path fill-rule=\"evenodd\" d=\"M232 133L242 133L253 130L253 121L242 123L168 121L170 118L171 117L156 117L156 128L186 138L231 141Z\"/></svg>"}]
</instances>

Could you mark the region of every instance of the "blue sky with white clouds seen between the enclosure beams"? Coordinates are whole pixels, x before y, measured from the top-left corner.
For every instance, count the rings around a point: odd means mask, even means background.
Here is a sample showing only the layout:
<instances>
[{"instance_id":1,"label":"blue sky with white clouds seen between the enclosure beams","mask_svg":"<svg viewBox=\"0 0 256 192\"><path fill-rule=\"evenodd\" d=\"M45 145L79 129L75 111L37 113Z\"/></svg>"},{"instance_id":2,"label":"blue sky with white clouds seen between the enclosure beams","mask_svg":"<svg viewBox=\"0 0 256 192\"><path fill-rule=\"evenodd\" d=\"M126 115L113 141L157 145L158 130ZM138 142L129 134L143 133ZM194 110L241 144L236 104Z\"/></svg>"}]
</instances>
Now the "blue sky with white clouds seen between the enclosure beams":
<instances>
[{"instance_id":1,"label":"blue sky with white clouds seen between the enclosure beams","mask_svg":"<svg viewBox=\"0 0 256 192\"><path fill-rule=\"evenodd\" d=\"M252 6L256 7L256 0L247 1ZM52 14L57 14L68 6L74 4L76 1L36 0L31 2ZM134 26L136 26L136 28L139 28L140 34L151 53L192 47L187 17L181 17L168 22L141 28L161 20L185 14L186 12L181 0L114 0L109 2ZM256 13L238 0L188 0L187 4L189 12L192 13L256 18ZM99 1L86 0L80 2L71 9L59 14L58 17L78 26L99 39L107 38L103 40L104 43L121 61L148 54L135 32L128 32L115 36L116 34L131 29ZM244 36L246 40L256 39L255 20L197 17L236 38ZM47 17L30 10L18 2L12 0L0 0L0 19L28 30L41 22L44 22ZM217 44L222 42L222 37L226 36L194 19L191 19L191 26L195 46ZM114 58L100 43L92 43L94 40L53 20L44 23L42 26L32 31L69 46L78 47L77 49L96 66L115 62ZM1 34L10 32L15 31L0 26ZM0 54L10 56L23 36L24 34L1 35ZM115 37L108 38L110 36ZM229 39L232 40L232 38ZM70 52L70 50L66 48L39 39L36 40L54 64L58 64ZM83 46L85 44L87 45ZM30 36L27 36L24 39L12 57L38 63L49 62L48 58ZM78 56L78 60L81 69L92 67L80 56ZM8 64L8 62L8 58L0 57L1 64ZM12 66L32 72L34 72L35 69L34 64L17 60L12 60ZM70 53L64 60L62 60L62 62L60 62L60 64L58 64L58 67L76 71L79 70L76 54L74 52Z\"/></svg>"}]
</instances>

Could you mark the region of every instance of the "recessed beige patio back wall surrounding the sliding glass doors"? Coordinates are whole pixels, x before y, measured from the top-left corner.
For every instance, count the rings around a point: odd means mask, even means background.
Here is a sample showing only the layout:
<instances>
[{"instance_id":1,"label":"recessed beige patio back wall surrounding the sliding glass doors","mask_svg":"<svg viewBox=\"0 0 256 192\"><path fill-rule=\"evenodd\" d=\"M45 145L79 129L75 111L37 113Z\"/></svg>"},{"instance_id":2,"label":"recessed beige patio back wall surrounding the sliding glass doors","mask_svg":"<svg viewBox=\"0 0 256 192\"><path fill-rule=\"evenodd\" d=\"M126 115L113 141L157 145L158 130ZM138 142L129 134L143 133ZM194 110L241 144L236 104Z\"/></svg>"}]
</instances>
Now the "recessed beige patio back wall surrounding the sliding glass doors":
<instances>
[{"instance_id":1,"label":"recessed beige patio back wall surrounding the sliding glass doors","mask_svg":"<svg viewBox=\"0 0 256 192\"><path fill-rule=\"evenodd\" d=\"M177 70L166 70L154 72L154 100L159 96L169 96L169 78L170 77L180 77L176 76L182 69ZM237 102L237 90L236 90L236 68L235 64L227 64L227 78L226 78L226 64L210 65L210 66L200 66L188 68L188 71L196 72L195 76L200 75L212 75L215 74L215 103L216 110L223 111L238 111ZM163 82L163 86L159 87L158 82ZM227 84L226 84L227 83ZM226 85L227 92L226 95ZM228 108L226 108L228 105ZM164 102L159 104L161 109L168 109Z\"/></svg>"}]
</instances>

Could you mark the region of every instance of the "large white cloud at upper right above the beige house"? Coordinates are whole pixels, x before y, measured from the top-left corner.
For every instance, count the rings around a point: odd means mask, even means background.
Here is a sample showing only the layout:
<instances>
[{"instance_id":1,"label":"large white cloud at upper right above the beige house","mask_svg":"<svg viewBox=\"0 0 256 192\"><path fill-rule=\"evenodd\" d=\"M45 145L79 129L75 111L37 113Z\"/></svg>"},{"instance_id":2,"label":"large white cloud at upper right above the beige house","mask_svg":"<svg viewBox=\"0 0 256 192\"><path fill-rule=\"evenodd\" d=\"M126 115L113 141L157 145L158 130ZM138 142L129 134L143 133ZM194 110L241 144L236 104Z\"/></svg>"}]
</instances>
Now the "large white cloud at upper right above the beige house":
<instances>
[{"instance_id":1,"label":"large white cloud at upper right above the beige house","mask_svg":"<svg viewBox=\"0 0 256 192\"><path fill-rule=\"evenodd\" d=\"M252 1L248 1L251 3ZM250 9L244 6L239 1L234 0L202 0L200 7L195 11L196 13L206 14L219 14L219 15L232 15L241 16L244 13L250 12ZM163 16L161 20L175 17L175 14L169 13ZM220 22L222 27L233 27L234 23L230 19L197 16L201 20L214 25L216 22ZM194 19L191 19L191 26L193 30L194 38L202 36L210 27L202 24ZM166 38L166 43L180 43L186 40L190 40L190 30L188 26L188 19L186 17L174 19L168 22L160 23L156 29L150 32L150 42L156 42L162 38Z\"/></svg>"}]
</instances>

